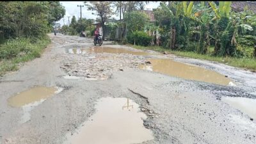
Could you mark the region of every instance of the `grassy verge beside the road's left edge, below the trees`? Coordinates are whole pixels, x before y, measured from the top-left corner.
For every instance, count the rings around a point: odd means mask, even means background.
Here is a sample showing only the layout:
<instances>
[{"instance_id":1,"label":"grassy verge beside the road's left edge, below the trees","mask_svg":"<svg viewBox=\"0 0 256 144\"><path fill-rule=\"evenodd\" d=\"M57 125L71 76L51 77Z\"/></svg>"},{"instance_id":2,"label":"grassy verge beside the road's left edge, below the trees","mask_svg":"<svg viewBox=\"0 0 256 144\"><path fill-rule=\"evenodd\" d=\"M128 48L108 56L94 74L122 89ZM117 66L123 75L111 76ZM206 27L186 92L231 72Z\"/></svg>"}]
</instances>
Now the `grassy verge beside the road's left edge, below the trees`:
<instances>
[{"instance_id":1,"label":"grassy verge beside the road's left edge, below the trees","mask_svg":"<svg viewBox=\"0 0 256 144\"><path fill-rule=\"evenodd\" d=\"M19 38L8 40L0 45L0 76L8 71L18 70L25 61L39 58L43 49L51 43L49 36L44 38Z\"/></svg>"}]
</instances>

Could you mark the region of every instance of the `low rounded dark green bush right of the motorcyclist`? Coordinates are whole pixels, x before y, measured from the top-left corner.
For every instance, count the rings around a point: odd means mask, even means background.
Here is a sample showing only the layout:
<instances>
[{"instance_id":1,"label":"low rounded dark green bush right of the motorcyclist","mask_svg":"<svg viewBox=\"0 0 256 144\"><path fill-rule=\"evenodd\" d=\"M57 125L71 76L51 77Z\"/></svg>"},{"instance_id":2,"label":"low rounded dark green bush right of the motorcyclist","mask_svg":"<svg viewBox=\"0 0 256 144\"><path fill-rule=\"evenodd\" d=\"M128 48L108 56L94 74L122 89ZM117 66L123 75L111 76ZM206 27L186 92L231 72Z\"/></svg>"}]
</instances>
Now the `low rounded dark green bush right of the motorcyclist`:
<instances>
[{"instance_id":1,"label":"low rounded dark green bush right of the motorcyclist","mask_svg":"<svg viewBox=\"0 0 256 144\"><path fill-rule=\"evenodd\" d=\"M135 40L136 45L150 45L151 39L152 37L148 36L144 31L134 31L133 33L127 35L127 41L131 44L134 44Z\"/></svg>"}]
</instances>

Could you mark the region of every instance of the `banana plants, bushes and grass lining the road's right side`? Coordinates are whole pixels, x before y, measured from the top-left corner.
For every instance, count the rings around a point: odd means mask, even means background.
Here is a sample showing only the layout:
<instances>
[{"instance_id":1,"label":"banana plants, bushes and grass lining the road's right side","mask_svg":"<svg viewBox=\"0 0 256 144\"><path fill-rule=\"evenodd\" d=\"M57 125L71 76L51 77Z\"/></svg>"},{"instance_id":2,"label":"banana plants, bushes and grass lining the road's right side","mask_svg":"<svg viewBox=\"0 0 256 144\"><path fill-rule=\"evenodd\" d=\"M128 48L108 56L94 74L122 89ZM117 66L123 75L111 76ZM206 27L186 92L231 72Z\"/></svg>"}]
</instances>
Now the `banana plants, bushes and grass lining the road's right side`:
<instances>
[{"instance_id":1,"label":"banana plants, bushes and grass lining the road's right side","mask_svg":"<svg viewBox=\"0 0 256 144\"><path fill-rule=\"evenodd\" d=\"M234 12L231 4L163 2L154 10L154 24L142 12L128 12L124 16L127 36L120 44L128 42L137 49L167 51L255 71L256 14L246 7Z\"/></svg>"}]
</instances>

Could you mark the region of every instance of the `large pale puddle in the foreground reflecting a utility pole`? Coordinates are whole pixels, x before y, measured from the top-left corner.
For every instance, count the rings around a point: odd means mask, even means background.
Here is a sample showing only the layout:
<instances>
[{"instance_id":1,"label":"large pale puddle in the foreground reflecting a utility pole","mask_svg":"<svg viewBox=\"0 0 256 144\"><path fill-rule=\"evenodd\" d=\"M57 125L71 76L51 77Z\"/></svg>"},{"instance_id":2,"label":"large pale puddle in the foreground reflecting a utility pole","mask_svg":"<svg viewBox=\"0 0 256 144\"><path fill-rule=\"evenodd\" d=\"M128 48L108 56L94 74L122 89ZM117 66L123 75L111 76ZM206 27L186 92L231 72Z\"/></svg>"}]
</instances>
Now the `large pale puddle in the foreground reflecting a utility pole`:
<instances>
[{"instance_id":1,"label":"large pale puddle in the foreground reflecting a utility pole","mask_svg":"<svg viewBox=\"0 0 256 144\"><path fill-rule=\"evenodd\" d=\"M66 144L128 144L154 139L152 132L143 126L147 116L139 112L138 104L132 100L102 98L96 109L76 133L67 134Z\"/></svg>"}]
</instances>

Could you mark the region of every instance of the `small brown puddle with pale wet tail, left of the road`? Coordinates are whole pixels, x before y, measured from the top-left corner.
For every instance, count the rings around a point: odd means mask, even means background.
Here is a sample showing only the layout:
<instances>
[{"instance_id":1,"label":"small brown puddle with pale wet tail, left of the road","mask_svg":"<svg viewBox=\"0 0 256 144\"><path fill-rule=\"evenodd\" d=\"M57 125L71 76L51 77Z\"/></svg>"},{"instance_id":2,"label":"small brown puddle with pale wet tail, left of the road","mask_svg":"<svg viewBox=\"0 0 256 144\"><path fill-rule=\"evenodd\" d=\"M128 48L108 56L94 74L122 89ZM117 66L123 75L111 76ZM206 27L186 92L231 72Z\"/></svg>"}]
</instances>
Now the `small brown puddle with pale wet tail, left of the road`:
<instances>
[{"instance_id":1,"label":"small brown puddle with pale wet tail, left of the road","mask_svg":"<svg viewBox=\"0 0 256 144\"><path fill-rule=\"evenodd\" d=\"M22 117L20 123L30 120L30 111L39 104L42 104L48 97L54 93L60 93L63 88L60 87L44 87L36 86L24 92L17 93L17 95L8 99L8 104L15 108L22 108Z\"/></svg>"}]
</instances>

